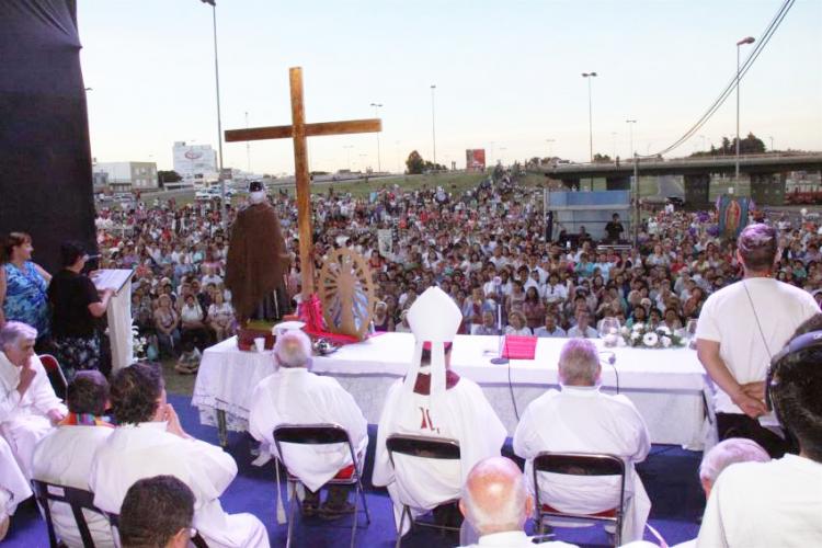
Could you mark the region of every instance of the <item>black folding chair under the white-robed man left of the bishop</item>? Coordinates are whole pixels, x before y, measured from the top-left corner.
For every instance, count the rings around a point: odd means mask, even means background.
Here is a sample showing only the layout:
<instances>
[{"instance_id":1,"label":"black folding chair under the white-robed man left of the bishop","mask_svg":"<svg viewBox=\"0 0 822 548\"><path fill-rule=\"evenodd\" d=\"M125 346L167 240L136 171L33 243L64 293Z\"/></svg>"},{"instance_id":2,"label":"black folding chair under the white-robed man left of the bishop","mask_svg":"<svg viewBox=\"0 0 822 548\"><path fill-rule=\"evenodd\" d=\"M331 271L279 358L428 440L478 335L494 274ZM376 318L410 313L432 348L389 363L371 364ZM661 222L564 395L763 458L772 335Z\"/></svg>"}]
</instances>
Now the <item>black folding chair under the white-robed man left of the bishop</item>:
<instances>
[{"instance_id":1,"label":"black folding chair under the white-robed man left of the bishop","mask_svg":"<svg viewBox=\"0 0 822 548\"><path fill-rule=\"evenodd\" d=\"M292 496L288 499L288 536L285 544L286 548L290 548L292 533L294 529L294 510L297 502L296 487L300 481L299 478L288 470L288 463L286 463L283 457L282 444L286 443L295 445L346 444L349 446L352 466L341 470L340 473L331 478L326 484L356 486L356 493L354 494L354 520L351 524L351 547L354 548L354 539L356 538L358 527L357 514L359 512L361 499L363 501L366 526L372 523L372 517L368 513L368 503L365 500L365 490L363 489L362 482L363 463L357 460L354 444L351 443L349 433L339 424L281 424L274 429L274 444L277 448L278 458L283 463L283 466L285 466L288 484L292 488Z\"/></svg>"}]
</instances>

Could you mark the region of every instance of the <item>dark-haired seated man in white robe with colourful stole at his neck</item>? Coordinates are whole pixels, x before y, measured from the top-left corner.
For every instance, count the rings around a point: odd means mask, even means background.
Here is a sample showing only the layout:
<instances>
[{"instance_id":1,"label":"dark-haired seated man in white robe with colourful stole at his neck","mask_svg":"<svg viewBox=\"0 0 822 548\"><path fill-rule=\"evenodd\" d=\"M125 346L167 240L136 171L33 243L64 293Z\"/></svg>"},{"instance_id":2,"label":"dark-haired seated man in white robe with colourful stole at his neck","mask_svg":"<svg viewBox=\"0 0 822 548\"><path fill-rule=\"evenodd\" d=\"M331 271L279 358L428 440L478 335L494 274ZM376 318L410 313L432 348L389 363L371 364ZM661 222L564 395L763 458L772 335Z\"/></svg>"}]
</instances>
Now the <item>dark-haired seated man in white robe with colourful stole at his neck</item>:
<instances>
[{"instance_id":1,"label":"dark-haired seated man in white robe with colourful stole at his neck","mask_svg":"<svg viewBox=\"0 0 822 548\"><path fill-rule=\"evenodd\" d=\"M98 370L80 370L68 387L66 400L68 415L34 449L32 475L49 483L88 490L94 452L114 432L112 424L103 418L109 403L109 383ZM55 532L62 544L69 548L82 548L71 506L61 502L49 504ZM113 548L109 520L98 512L83 511L83 515L94 546Z\"/></svg>"}]
</instances>

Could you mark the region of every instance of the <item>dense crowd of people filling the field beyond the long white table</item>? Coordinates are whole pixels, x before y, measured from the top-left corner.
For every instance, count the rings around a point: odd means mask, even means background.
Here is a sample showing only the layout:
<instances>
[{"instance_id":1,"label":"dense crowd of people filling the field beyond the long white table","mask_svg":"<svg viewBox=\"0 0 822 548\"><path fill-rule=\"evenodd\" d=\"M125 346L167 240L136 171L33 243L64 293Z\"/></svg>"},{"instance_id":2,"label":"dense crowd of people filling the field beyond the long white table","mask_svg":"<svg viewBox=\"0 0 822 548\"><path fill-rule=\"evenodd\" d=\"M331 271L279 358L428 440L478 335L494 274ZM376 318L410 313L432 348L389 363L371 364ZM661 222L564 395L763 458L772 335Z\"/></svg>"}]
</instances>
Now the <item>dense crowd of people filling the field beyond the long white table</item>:
<instances>
[{"instance_id":1,"label":"dense crowd of people filling the field beyond the long white table","mask_svg":"<svg viewBox=\"0 0 822 548\"><path fill-rule=\"evenodd\" d=\"M270 199L292 256L286 287L296 299L296 203L284 191ZM627 236L618 218L608 224L608 233L592 235L584 227L567 232L558 225L547 230L541 190L520 186L507 175L461 193L386 185L355 198L329 189L315 194L312 205L317 271L334 249L359 252L376 282L377 331L409 331L408 308L431 286L441 287L460 308L459 332L465 334L597 336L605 317L677 330L699 316L711 293L742 272L735 248L720 238L712 213L665 208L642 224L637 246L624 240L623 246L601 246ZM236 214L228 208L229 226ZM96 219L100 265L135 269L132 313L148 341L148 357L180 358L180 373L196 372L202 350L237 330L224 285L228 239L220 215L213 203L178 206L173 199L156 199L128 212L103 208ZM784 228L777 278L822 295L818 227L770 221ZM380 230L391 231L383 248ZM20 235L5 246L8 283L0 278L0 301L12 317L48 338L44 276L49 275L30 262L25 246L32 242L23 240ZM91 328L82 329L81 338L90 341L85 346L93 344ZM61 362L77 361L67 355Z\"/></svg>"}]
</instances>

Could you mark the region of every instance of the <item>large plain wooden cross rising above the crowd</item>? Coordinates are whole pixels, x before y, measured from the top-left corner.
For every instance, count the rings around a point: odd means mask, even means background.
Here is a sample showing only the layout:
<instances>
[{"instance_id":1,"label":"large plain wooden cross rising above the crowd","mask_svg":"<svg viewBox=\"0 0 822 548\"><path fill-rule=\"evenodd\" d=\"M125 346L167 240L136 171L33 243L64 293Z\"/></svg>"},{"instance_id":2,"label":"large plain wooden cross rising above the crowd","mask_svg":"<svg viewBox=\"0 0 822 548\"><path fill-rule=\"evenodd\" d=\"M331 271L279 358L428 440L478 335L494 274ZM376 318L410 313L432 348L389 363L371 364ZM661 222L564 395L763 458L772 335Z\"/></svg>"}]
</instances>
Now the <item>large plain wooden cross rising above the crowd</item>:
<instances>
[{"instance_id":1,"label":"large plain wooden cross rising above the crowd","mask_svg":"<svg viewBox=\"0 0 822 548\"><path fill-rule=\"evenodd\" d=\"M292 88L292 125L249 127L247 129L229 129L226 132L226 142L262 140L262 139L294 139L294 173L297 179L297 216L299 222L299 263L302 274L302 297L308 299L313 293L313 260L311 230L311 189L308 172L307 137L319 135L344 135L380 132L383 124L379 118L349 119L344 122L321 122L306 124L306 110L302 101L302 68L288 69Z\"/></svg>"}]
</instances>

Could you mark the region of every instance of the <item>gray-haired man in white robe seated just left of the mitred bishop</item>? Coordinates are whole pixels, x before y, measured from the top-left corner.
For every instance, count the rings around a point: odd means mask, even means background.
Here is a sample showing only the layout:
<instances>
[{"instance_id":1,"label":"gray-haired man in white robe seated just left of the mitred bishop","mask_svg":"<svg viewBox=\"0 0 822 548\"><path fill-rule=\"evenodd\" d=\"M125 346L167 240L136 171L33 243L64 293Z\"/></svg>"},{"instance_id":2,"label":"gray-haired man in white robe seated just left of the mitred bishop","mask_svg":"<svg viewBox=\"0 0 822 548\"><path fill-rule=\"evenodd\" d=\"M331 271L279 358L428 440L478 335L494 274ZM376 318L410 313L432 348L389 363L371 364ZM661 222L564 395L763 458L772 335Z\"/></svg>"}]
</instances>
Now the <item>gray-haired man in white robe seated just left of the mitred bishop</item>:
<instances>
[{"instance_id":1,"label":"gray-haired man in white robe seated just left of the mitred bishop","mask_svg":"<svg viewBox=\"0 0 822 548\"><path fill-rule=\"evenodd\" d=\"M276 454L274 429L281 424L339 424L349 433L357 460L362 464L368 446L368 422L354 398L332 377L320 377L308 370L311 341L302 331L288 331L277 338L274 361L278 369L254 389L249 413L249 432ZM351 475L347 445L283 446L288 470L308 489L302 513L339 516L351 513L347 486L329 486L320 506L319 489L340 473Z\"/></svg>"}]
</instances>

